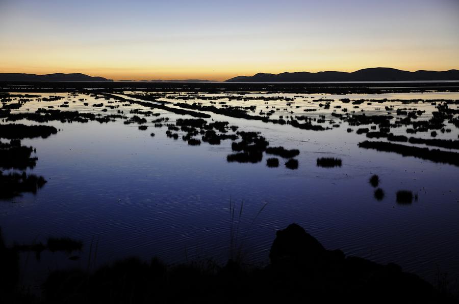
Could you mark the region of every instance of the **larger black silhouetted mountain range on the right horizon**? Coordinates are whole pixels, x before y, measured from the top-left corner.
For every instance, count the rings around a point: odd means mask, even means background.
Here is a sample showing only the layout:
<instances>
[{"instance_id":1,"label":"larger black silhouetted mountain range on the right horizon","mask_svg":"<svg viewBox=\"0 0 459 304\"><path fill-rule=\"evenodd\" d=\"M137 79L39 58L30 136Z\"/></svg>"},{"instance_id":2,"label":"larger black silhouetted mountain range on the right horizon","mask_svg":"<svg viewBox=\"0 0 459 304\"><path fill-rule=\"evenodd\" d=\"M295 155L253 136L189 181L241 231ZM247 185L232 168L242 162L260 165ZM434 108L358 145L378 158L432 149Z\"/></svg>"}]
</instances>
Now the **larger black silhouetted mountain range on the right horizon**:
<instances>
[{"instance_id":1,"label":"larger black silhouetted mountain range on the right horizon","mask_svg":"<svg viewBox=\"0 0 459 304\"><path fill-rule=\"evenodd\" d=\"M459 80L458 70L449 71L402 71L392 68L369 68L355 72L294 72L281 74L258 73L253 76L237 76L227 82L319 82L319 81L429 81Z\"/></svg>"}]
</instances>

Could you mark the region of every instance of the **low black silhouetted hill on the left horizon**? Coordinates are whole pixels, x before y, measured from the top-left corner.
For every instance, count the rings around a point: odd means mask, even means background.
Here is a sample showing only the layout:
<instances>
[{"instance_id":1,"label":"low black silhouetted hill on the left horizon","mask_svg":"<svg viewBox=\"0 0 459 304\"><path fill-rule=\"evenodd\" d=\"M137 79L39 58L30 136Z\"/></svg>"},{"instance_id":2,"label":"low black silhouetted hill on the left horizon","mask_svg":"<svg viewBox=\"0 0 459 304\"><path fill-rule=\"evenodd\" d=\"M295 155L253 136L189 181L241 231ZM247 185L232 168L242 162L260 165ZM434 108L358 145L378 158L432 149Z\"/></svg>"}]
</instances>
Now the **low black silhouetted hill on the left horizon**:
<instances>
[{"instance_id":1,"label":"low black silhouetted hill on the left horizon","mask_svg":"<svg viewBox=\"0 0 459 304\"><path fill-rule=\"evenodd\" d=\"M92 77L82 73L24 74L0 73L0 81L113 81L104 77Z\"/></svg>"}]
</instances>

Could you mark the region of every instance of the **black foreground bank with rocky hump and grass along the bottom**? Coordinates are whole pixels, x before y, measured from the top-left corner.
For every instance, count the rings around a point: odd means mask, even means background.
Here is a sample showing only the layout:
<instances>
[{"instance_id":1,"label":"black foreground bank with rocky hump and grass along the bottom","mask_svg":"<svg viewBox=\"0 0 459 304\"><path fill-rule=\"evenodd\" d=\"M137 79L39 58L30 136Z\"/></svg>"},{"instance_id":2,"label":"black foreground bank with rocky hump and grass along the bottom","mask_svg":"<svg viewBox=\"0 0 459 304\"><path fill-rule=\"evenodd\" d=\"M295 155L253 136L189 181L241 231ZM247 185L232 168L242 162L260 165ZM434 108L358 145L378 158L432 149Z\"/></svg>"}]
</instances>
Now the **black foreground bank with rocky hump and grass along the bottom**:
<instances>
[{"instance_id":1,"label":"black foreground bank with rocky hump and grass along the bottom","mask_svg":"<svg viewBox=\"0 0 459 304\"><path fill-rule=\"evenodd\" d=\"M397 302L456 303L396 264L381 265L340 250L326 250L296 224L277 231L270 263L248 267L230 260L167 266L127 258L93 273L51 272L41 296L17 286L18 251L0 240L2 303L229 303L229 302Z\"/></svg>"}]
</instances>

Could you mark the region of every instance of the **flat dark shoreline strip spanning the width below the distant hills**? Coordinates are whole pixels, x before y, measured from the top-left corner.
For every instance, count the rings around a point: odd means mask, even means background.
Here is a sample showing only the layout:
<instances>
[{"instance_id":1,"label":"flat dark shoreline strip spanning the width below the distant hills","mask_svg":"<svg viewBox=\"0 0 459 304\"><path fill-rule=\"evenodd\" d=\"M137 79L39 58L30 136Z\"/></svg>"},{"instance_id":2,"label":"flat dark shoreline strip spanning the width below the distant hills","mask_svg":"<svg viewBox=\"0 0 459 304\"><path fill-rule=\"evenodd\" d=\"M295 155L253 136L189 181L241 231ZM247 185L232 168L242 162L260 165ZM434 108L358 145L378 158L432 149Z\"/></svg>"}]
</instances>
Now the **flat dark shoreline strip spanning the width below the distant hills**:
<instances>
[{"instance_id":1,"label":"flat dark shoreline strip spanning the width below the distant hills","mask_svg":"<svg viewBox=\"0 0 459 304\"><path fill-rule=\"evenodd\" d=\"M148 92L275 92L304 94L380 94L410 92L459 92L459 82L385 82L385 83L235 83L235 82L24 82L0 81L0 92L74 92L97 89L135 88Z\"/></svg>"}]
</instances>

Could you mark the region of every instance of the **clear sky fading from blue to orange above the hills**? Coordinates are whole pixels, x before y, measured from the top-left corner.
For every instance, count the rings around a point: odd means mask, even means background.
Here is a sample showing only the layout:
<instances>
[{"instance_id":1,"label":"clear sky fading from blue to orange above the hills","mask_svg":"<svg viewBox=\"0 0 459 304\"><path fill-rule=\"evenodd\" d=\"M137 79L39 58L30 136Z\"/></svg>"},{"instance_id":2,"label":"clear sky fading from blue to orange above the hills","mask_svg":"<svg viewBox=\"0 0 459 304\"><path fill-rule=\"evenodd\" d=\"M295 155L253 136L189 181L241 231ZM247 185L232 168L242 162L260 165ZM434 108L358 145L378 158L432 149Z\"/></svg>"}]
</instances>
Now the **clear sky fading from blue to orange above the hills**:
<instances>
[{"instance_id":1,"label":"clear sky fading from blue to orange above the hills","mask_svg":"<svg viewBox=\"0 0 459 304\"><path fill-rule=\"evenodd\" d=\"M459 69L459 0L0 0L0 72L224 80Z\"/></svg>"}]
</instances>

